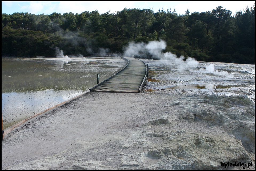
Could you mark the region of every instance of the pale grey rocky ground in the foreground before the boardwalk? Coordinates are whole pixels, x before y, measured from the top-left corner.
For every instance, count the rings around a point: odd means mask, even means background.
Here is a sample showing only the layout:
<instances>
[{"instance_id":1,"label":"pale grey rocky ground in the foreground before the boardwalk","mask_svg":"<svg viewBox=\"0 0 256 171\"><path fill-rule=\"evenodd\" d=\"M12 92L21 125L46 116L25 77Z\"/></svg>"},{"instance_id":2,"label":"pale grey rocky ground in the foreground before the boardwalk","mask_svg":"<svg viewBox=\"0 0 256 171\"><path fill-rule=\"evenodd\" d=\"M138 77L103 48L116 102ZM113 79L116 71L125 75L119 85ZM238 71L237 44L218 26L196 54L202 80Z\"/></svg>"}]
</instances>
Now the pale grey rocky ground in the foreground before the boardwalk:
<instances>
[{"instance_id":1,"label":"pale grey rocky ground in the foreground before the boardwalk","mask_svg":"<svg viewBox=\"0 0 256 171\"><path fill-rule=\"evenodd\" d=\"M2 169L254 170L254 114L246 95L89 92L7 134Z\"/></svg>"}]
</instances>

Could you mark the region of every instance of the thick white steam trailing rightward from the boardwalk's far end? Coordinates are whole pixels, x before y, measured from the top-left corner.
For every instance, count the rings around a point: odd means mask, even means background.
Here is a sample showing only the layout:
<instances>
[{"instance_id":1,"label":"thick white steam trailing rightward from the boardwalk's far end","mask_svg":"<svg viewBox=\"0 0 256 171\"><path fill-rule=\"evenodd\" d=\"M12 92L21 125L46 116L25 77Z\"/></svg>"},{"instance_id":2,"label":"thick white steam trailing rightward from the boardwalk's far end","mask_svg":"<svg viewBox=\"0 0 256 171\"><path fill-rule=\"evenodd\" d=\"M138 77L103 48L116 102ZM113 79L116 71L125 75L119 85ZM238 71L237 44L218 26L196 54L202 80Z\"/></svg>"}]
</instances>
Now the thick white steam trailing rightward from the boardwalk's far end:
<instances>
[{"instance_id":1,"label":"thick white steam trailing rightward from the boardwalk's far end","mask_svg":"<svg viewBox=\"0 0 256 171\"><path fill-rule=\"evenodd\" d=\"M171 61L172 65L175 65L178 68L179 72L184 72L185 70L198 70L196 67L199 64L197 60L191 57L187 57L186 61L184 56L179 58L171 53L162 51L166 48L166 42L163 40L160 41L149 41L149 43L135 43L130 42L123 50L123 56L131 57L132 55L138 56L144 59L156 59L156 60L168 60ZM229 77L233 78L233 74L228 74L226 71L219 72L214 70L214 65L211 64L206 66L206 69L200 69L200 72L211 73L216 76Z\"/></svg>"}]
</instances>

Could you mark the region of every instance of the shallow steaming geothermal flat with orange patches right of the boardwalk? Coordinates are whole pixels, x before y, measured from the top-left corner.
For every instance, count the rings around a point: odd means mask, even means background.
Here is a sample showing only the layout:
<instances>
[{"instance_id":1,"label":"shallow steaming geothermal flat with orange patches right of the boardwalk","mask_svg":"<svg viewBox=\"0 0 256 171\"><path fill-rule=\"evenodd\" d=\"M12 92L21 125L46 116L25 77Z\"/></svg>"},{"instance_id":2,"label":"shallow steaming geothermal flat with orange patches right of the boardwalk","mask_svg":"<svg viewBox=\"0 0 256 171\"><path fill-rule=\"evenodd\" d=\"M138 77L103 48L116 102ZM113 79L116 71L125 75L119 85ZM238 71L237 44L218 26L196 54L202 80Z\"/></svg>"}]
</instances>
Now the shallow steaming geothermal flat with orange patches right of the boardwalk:
<instances>
[{"instance_id":1,"label":"shallow steaming geothermal flat with orange patches right of the boardwalk","mask_svg":"<svg viewBox=\"0 0 256 171\"><path fill-rule=\"evenodd\" d=\"M145 93L247 95L255 101L255 65L143 59ZM166 64L166 69L165 69Z\"/></svg>"}]
</instances>

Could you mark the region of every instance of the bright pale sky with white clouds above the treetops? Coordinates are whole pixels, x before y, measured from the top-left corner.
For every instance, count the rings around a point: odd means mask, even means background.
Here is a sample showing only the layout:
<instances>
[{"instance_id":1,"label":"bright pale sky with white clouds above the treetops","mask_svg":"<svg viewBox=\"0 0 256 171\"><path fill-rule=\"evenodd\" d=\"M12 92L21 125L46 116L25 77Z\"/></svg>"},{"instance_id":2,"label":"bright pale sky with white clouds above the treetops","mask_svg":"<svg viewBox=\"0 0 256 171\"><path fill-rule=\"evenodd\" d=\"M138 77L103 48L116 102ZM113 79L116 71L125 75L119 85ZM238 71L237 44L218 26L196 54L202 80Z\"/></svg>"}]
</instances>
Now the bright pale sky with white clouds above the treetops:
<instances>
[{"instance_id":1,"label":"bright pale sky with white clouds above the treetops","mask_svg":"<svg viewBox=\"0 0 256 171\"><path fill-rule=\"evenodd\" d=\"M248 6L253 7L255 1L2 1L2 14L13 14L14 12L29 12L31 14L52 14L72 12L74 14L84 11L99 11L100 14L110 11L122 11L127 9L154 9L157 12L163 8L167 11L175 11L179 15L184 15L189 9L190 12L206 12L222 6L223 9L232 11L232 16L236 11L245 10Z\"/></svg>"}]
</instances>

